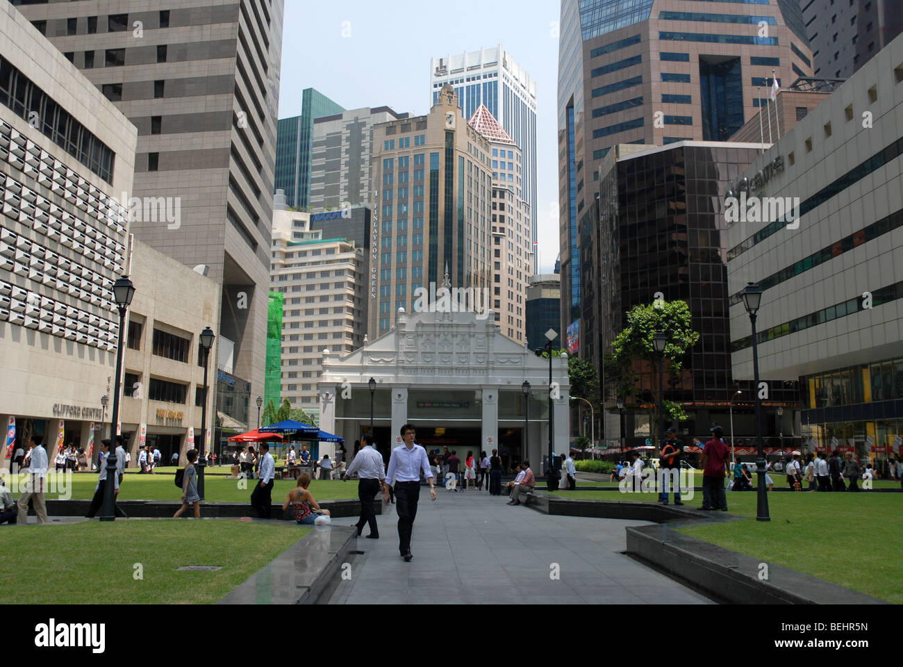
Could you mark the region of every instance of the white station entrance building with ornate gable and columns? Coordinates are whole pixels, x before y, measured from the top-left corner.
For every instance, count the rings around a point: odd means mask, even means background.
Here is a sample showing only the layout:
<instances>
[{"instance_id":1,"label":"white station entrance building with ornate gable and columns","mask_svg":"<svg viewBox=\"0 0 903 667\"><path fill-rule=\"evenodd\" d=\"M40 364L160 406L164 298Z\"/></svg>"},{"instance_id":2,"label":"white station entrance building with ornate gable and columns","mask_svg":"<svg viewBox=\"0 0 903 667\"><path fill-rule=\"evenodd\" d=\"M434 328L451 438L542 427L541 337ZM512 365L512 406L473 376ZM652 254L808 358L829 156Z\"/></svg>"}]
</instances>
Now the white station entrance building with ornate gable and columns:
<instances>
[{"instance_id":1,"label":"white station entrance building with ornate gable and columns","mask_svg":"<svg viewBox=\"0 0 903 667\"><path fill-rule=\"evenodd\" d=\"M411 423L427 452L448 446L463 461L469 450L479 457L498 449L507 470L527 458L542 474L549 449L549 362L503 336L491 310L488 315L399 310L393 329L348 356L324 351L320 427L344 437L350 457L354 441L370 428L372 401L384 456L401 445L399 431ZM553 358L552 375L558 454L570 433L566 354Z\"/></svg>"}]
</instances>

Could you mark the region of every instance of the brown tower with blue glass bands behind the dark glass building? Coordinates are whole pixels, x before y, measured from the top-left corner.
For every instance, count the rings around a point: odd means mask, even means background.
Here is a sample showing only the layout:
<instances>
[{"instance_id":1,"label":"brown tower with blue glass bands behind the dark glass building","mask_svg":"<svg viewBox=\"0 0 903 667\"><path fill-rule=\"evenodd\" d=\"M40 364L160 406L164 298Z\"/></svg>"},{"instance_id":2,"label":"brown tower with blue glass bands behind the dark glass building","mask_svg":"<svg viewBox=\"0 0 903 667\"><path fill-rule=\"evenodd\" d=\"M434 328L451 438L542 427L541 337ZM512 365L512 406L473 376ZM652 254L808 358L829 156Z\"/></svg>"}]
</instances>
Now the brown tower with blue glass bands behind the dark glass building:
<instances>
[{"instance_id":1,"label":"brown tower with blue glass bands behind the dark glass building","mask_svg":"<svg viewBox=\"0 0 903 667\"><path fill-rule=\"evenodd\" d=\"M768 99L773 76L787 86L812 75L796 2L704 5L562 0L558 173L565 330L580 318L582 292L591 288L581 278L579 227L591 224L600 161L611 147L726 141Z\"/></svg>"}]
</instances>

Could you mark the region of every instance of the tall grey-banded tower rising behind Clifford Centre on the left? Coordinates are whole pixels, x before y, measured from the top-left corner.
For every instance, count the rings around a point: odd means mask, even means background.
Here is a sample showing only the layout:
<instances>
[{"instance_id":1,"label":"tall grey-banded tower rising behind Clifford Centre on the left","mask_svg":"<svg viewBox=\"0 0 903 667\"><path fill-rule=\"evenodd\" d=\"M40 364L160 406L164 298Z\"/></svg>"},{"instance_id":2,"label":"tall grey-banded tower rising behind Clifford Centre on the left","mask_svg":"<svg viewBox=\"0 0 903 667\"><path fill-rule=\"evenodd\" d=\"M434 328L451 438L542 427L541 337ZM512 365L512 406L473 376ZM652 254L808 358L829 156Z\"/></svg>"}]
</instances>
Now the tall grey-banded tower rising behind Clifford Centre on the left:
<instances>
[{"instance_id":1,"label":"tall grey-banded tower rising behind Clifford Centre on the left","mask_svg":"<svg viewBox=\"0 0 903 667\"><path fill-rule=\"evenodd\" d=\"M283 0L18 5L138 127L133 194L163 198L173 215L138 216L130 230L222 286L211 364L256 393L264 387L283 8Z\"/></svg>"}]
</instances>

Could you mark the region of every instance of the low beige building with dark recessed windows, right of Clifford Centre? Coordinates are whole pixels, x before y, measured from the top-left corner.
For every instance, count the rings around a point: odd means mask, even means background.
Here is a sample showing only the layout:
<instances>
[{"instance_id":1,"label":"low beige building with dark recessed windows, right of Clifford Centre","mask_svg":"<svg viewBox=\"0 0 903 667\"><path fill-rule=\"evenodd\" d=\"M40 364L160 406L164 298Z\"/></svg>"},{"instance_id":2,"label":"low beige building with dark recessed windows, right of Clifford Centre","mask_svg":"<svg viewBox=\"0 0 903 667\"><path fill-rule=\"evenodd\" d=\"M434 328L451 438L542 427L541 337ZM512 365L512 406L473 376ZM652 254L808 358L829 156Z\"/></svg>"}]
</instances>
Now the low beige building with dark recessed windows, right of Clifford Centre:
<instances>
[{"instance_id":1,"label":"low beige building with dark recessed windows, right of Clifford Centre","mask_svg":"<svg viewBox=\"0 0 903 667\"><path fill-rule=\"evenodd\" d=\"M131 275L135 298L128 310L123 399L119 420L126 450L137 465L139 446L160 449L181 465L191 446L200 448L200 406L204 387L200 332L216 324L219 286L177 260L135 241ZM161 279L161 277L165 277ZM217 383L219 340L209 352L207 383L208 450L217 451L213 387ZM247 426L247 418L245 424ZM108 437L108 429L107 429ZM97 459L95 450L95 460Z\"/></svg>"}]
</instances>

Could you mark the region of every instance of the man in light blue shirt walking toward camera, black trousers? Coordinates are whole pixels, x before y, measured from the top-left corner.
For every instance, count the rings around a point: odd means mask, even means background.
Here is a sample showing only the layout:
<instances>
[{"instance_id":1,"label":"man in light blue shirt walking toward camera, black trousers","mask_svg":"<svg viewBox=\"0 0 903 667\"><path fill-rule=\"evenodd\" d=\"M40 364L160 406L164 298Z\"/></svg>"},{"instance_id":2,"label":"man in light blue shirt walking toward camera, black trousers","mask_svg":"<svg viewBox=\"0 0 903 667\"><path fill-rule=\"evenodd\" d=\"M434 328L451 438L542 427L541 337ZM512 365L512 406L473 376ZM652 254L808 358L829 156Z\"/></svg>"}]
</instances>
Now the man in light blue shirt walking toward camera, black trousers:
<instances>
[{"instance_id":1,"label":"man in light blue shirt walking toward camera, black trousers","mask_svg":"<svg viewBox=\"0 0 903 667\"><path fill-rule=\"evenodd\" d=\"M389 459L386 471L386 486L383 490L384 502L389 502L388 487L395 482L396 506L398 508L398 550L405 562L411 562L411 532L414 531L414 518L417 516L417 501L420 499L420 473L423 471L430 483L430 496L436 499L433 487L433 470L430 468L426 450L414 445L414 427L405 424L401 427L401 437L405 444L396 446Z\"/></svg>"}]
</instances>

